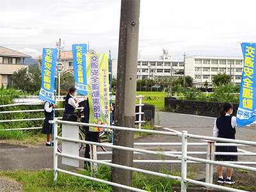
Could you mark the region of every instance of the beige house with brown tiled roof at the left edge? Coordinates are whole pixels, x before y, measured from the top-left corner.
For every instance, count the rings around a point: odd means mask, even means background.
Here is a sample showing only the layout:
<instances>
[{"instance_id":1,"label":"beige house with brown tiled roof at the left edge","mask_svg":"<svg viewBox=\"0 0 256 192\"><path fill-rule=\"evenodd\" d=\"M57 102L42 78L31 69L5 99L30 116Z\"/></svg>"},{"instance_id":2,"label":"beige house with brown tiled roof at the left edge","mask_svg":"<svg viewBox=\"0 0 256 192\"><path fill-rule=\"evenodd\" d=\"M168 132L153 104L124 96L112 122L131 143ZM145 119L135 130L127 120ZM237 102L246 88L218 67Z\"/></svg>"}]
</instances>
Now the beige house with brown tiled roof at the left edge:
<instances>
[{"instance_id":1,"label":"beige house with brown tiled roof at the left edge","mask_svg":"<svg viewBox=\"0 0 256 192\"><path fill-rule=\"evenodd\" d=\"M9 84L12 86L12 74L21 68L27 68L25 59L31 58L28 54L14 51L12 49L0 46L0 88Z\"/></svg>"}]
</instances>

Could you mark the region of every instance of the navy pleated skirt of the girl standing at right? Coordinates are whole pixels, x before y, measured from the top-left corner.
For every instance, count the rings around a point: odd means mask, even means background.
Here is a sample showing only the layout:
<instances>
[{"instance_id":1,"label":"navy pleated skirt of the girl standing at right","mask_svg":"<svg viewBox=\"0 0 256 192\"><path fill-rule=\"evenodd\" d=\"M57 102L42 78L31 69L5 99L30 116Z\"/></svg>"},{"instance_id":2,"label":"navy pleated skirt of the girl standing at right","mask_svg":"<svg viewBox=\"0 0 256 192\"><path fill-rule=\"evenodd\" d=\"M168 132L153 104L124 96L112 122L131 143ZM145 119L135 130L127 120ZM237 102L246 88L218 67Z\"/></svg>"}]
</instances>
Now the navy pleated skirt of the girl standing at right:
<instances>
[{"instance_id":1,"label":"navy pleated skirt of the girl standing at right","mask_svg":"<svg viewBox=\"0 0 256 192\"><path fill-rule=\"evenodd\" d=\"M223 143L223 144L225 144L225 143ZM216 152L236 152L237 153L237 147L236 146L216 146L215 151ZM216 155L215 159L216 159L216 161L237 161L237 156Z\"/></svg>"}]
</instances>

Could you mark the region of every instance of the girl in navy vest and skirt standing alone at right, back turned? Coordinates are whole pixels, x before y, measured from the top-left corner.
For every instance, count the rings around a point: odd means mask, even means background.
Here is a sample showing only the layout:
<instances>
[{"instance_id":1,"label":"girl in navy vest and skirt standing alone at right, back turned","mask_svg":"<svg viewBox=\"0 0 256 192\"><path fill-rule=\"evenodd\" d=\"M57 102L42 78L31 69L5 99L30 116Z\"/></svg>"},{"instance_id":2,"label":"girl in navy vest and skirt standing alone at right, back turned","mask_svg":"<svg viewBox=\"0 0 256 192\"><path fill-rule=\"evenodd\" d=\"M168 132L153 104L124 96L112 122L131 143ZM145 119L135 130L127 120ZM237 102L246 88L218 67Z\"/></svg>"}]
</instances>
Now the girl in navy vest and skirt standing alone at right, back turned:
<instances>
[{"instance_id":1,"label":"girl in navy vest and skirt standing alone at right, back turned","mask_svg":"<svg viewBox=\"0 0 256 192\"><path fill-rule=\"evenodd\" d=\"M236 134L236 116L232 116L233 105L230 102L225 102L220 111L220 117L215 120L213 136L216 138L227 138L235 140ZM225 143L223 143L225 145ZM216 146L216 152L237 152L236 146ZM237 156L216 155L217 161L237 161ZM223 177L223 167L217 165L218 183L219 184L234 184L232 180L233 168L227 168L227 179Z\"/></svg>"}]
</instances>

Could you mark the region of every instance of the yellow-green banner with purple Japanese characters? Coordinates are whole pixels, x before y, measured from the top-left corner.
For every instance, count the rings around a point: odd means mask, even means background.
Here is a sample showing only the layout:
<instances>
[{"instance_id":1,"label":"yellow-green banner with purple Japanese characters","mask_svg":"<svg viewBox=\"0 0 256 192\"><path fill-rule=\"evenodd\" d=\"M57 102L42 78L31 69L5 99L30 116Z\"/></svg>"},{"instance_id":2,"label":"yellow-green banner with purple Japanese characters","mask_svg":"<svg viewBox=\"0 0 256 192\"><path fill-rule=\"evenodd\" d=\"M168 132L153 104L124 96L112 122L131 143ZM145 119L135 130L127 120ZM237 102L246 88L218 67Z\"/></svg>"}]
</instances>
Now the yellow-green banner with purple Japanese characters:
<instances>
[{"instance_id":1,"label":"yellow-green banner with purple Japanese characters","mask_svg":"<svg viewBox=\"0 0 256 192\"><path fill-rule=\"evenodd\" d=\"M86 56L86 69L90 107L89 124L110 125L108 54ZM90 131L104 131L104 129L90 127Z\"/></svg>"}]
</instances>

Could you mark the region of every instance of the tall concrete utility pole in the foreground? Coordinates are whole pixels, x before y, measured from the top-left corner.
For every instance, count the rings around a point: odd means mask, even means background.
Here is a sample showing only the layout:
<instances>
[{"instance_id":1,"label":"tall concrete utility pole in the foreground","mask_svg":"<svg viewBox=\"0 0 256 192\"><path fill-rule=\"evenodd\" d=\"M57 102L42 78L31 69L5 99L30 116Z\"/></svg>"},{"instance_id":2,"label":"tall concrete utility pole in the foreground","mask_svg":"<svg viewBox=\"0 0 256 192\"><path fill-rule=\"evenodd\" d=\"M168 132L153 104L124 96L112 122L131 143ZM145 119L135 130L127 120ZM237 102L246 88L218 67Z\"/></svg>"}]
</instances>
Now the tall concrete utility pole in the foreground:
<instances>
[{"instance_id":1,"label":"tall concrete utility pole in the foreground","mask_svg":"<svg viewBox=\"0 0 256 192\"><path fill-rule=\"evenodd\" d=\"M115 125L134 127L138 62L140 0L122 0L116 78ZM114 145L133 147L134 132L115 130ZM132 166L133 152L113 149L113 163ZM112 168L112 181L132 185L132 172ZM126 189L113 188L115 192Z\"/></svg>"}]
</instances>

